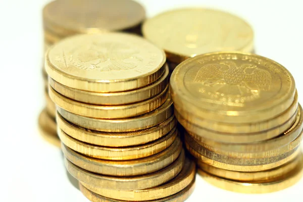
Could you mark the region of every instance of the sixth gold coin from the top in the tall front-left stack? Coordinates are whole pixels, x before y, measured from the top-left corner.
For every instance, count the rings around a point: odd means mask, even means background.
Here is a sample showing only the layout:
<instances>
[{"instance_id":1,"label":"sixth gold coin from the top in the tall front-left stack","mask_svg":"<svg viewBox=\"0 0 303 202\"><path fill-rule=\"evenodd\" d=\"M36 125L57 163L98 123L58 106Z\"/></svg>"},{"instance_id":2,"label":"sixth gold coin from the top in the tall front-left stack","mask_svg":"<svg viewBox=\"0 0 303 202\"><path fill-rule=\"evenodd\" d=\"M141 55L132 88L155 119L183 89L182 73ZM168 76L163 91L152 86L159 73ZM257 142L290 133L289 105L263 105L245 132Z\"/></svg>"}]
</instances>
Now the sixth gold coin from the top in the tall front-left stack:
<instances>
[{"instance_id":1,"label":"sixth gold coin from the top in the tall front-left stack","mask_svg":"<svg viewBox=\"0 0 303 202\"><path fill-rule=\"evenodd\" d=\"M89 157L105 160L132 160L158 154L174 142L177 134L178 132L174 128L164 137L146 144L128 147L105 147L79 141L63 130L58 130L61 141L71 149Z\"/></svg>"}]
</instances>

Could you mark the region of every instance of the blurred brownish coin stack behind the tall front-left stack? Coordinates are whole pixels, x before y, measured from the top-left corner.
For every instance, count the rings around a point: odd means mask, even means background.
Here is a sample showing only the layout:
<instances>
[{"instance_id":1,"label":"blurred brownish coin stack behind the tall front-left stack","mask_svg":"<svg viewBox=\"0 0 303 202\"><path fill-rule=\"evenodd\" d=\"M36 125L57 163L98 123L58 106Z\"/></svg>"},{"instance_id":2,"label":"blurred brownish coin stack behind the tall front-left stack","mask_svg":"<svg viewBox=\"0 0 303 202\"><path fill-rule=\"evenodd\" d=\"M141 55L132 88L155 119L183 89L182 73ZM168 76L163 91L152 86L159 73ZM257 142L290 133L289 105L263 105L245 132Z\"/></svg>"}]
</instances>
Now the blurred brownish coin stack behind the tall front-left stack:
<instances>
[{"instance_id":1,"label":"blurred brownish coin stack behind the tall front-left stack","mask_svg":"<svg viewBox=\"0 0 303 202\"><path fill-rule=\"evenodd\" d=\"M141 34L141 23L145 10L131 0L58 0L47 4L43 9L44 52L71 35L81 33L103 33L124 31ZM44 60L44 59L43 59ZM39 116L41 134L47 140L60 145L55 122L55 104L48 96L47 73L42 68L45 84L46 108ZM52 127L50 127L49 125Z\"/></svg>"}]
</instances>

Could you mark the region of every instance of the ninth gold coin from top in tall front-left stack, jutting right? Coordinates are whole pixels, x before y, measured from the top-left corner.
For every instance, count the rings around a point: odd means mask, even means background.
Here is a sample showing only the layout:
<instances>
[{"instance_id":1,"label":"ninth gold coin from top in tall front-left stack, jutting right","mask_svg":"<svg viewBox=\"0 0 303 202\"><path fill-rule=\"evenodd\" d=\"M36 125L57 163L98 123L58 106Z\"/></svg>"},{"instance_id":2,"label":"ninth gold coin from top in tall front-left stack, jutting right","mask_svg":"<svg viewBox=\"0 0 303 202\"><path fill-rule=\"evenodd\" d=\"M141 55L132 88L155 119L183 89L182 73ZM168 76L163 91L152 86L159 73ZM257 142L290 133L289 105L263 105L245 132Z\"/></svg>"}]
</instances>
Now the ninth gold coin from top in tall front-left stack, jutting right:
<instances>
[{"instance_id":1,"label":"ninth gold coin from top in tall front-left stack, jutting right","mask_svg":"<svg viewBox=\"0 0 303 202\"><path fill-rule=\"evenodd\" d=\"M82 183L89 190L119 200L131 200L131 201L142 201L142 200L155 200L157 198L164 198L178 193L190 186L195 181L195 164L189 159L185 159L184 167L179 175L174 179L165 184L157 187L143 189L143 190L109 190L109 188L97 188L91 184Z\"/></svg>"}]
</instances>

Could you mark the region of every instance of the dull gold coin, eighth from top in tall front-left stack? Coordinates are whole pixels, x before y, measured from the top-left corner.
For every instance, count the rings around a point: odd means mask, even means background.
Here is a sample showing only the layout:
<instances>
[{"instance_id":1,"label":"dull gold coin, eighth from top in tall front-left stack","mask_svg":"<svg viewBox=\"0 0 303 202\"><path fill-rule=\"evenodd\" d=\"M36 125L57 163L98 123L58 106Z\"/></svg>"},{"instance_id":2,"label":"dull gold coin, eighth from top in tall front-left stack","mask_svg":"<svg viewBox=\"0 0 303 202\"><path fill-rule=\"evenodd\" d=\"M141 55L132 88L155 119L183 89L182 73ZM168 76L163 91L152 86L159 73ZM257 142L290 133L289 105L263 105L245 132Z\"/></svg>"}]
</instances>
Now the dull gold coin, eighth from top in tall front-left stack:
<instances>
[{"instance_id":1,"label":"dull gold coin, eighth from top in tall front-left stack","mask_svg":"<svg viewBox=\"0 0 303 202\"><path fill-rule=\"evenodd\" d=\"M74 165L67 159L65 159L65 165L70 174L82 184L85 183L99 188L128 191L155 187L171 180L181 172L184 159L185 155L184 151L182 151L177 160L168 167L154 173L131 177L113 177L91 173Z\"/></svg>"}]
</instances>

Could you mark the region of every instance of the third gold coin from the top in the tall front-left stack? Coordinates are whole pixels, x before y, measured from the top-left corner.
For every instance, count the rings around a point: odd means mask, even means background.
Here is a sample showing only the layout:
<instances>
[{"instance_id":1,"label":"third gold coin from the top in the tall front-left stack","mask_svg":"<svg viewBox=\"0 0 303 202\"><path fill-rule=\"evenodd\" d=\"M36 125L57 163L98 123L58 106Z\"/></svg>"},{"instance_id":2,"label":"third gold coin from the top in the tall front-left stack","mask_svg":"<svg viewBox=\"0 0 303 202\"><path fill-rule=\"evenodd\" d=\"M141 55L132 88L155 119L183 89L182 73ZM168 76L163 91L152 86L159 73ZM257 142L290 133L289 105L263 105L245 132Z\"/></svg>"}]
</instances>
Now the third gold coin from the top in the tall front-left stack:
<instances>
[{"instance_id":1,"label":"third gold coin from the top in the tall front-left stack","mask_svg":"<svg viewBox=\"0 0 303 202\"><path fill-rule=\"evenodd\" d=\"M80 103L61 95L51 86L48 88L48 94L57 106L73 114L91 118L122 119L146 114L159 108L168 97L168 86L158 95L143 102L119 106Z\"/></svg>"}]
</instances>

